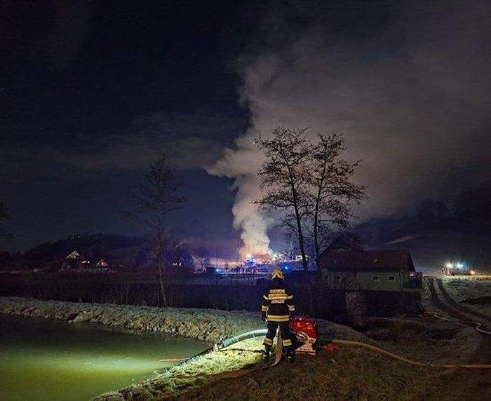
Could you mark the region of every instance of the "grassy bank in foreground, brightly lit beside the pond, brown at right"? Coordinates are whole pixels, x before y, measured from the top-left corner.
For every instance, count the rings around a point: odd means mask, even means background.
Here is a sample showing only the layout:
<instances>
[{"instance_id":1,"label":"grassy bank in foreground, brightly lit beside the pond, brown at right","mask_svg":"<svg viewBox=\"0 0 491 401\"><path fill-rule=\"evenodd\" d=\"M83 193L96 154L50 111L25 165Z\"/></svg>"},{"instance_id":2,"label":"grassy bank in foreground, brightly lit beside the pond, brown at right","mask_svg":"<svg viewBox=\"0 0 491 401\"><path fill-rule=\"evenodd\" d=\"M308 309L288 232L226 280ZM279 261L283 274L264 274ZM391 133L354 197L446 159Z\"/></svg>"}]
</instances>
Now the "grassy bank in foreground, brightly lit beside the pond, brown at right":
<instances>
[{"instance_id":1,"label":"grassy bank in foreground, brightly lit beside the pond, brown at right","mask_svg":"<svg viewBox=\"0 0 491 401\"><path fill-rule=\"evenodd\" d=\"M431 319L378 320L364 334L320 323L323 337L362 341L423 362L468 362L480 345L473 329ZM363 348L342 346L334 353L297 355L293 365L283 362L235 379L213 376L259 363L261 342L243 341L203 355L100 400L438 400L455 373L404 365ZM467 399L465 387L455 395Z\"/></svg>"}]
</instances>

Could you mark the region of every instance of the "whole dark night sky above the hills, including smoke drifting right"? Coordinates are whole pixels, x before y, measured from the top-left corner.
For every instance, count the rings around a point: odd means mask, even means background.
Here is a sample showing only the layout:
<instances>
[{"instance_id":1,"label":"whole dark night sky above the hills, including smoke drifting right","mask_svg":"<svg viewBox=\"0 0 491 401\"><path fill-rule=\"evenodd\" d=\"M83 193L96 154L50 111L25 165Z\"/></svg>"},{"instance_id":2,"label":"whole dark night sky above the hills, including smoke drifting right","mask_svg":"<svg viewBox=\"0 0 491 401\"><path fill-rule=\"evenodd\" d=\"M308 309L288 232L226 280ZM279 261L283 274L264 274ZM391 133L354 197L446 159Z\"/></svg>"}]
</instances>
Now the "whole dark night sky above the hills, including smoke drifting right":
<instances>
[{"instance_id":1,"label":"whole dark night sky above the hills, including smoke drifting right","mask_svg":"<svg viewBox=\"0 0 491 401\"><path fill-rule=\"evenodd\" d=\"M142 233L116 212L162 151L173 224L235 243L230 189L253 198L250 138L278 123L347 135L363 217L486 182L490 21L486 1L2 1L7 247Z\"/></svg>"}]
</instances>

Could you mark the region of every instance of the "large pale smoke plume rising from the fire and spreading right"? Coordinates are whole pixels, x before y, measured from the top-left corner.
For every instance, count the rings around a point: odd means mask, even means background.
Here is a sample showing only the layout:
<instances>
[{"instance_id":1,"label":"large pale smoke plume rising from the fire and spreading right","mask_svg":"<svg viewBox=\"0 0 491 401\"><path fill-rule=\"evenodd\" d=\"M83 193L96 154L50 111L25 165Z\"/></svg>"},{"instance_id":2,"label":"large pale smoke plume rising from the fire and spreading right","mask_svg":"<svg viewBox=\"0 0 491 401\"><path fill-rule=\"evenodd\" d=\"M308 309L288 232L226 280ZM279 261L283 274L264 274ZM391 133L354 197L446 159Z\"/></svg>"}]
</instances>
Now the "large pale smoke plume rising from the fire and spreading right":
<instances>
[{"instance_id":1,"label":"large pale smoke plume rising from the fire and spreading right","mask_svg":"<svg viewBox=\"0 0 491 401\"><path fill-rule=\"evenodd\" d=\"M385 11L375 23L276 10L266 44L240 60L250 128L208 171L236 179L234 224L248 250L269 247L268 222L252 204L262 161L253 137L280 124L344 132L347 158L362 160L364 218L490 179L490 5L412 1ZM304 22L293 25L291 12Z\"/></svg>"}]
</instances>

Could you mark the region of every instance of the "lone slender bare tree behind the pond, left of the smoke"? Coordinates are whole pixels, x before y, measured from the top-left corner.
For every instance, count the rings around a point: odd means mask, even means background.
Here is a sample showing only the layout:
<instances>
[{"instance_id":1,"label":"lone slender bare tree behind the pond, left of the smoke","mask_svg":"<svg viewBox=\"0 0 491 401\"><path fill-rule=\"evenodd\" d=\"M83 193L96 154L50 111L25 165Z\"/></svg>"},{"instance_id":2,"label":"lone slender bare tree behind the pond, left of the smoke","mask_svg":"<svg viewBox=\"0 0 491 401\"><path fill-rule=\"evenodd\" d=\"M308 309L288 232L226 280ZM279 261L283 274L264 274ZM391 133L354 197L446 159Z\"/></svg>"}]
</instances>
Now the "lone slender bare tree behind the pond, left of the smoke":
<instances>
[{"instance_id":1,"label":"lone slender bare tree behind the pond, left of the smoke","mask_svg":"<svg viewBox=\"0 0 491 401\"><path fill-rule=\"evenodd\" d=\"M155 263L159 273L159 286L163 306L168 306L163 285L166 267L165 252L169 238L166 231L168 213L182 208L184 198L178 194L182 182L176 168L167 155L161 156L152 165L133 193L135 210L123 212L126 217L139 220L148 227L154 247Z\"/></svg>"}]
</instances>

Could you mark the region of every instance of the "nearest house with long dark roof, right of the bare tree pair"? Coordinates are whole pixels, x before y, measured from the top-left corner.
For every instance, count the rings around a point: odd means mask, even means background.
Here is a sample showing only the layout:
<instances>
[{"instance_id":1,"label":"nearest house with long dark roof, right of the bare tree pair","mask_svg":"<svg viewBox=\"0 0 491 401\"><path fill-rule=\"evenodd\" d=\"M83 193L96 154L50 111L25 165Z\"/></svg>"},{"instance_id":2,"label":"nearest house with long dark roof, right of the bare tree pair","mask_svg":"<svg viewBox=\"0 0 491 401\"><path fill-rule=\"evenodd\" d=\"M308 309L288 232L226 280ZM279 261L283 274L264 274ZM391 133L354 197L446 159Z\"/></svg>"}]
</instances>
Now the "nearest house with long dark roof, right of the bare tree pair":
<instances>
[{"instance_id":1,"label":"nearest house with long dark roof, right of the bare tree pair","mask_svg":"<svg viewBox=\"0 0 491 401\"><path fill-rule=\"evenodd\" d=\"M422 273L415 271L408 250L328 250L319 265L330 283L349 283L351 289L418 292Z\"/></svg>"}]
</instances>

